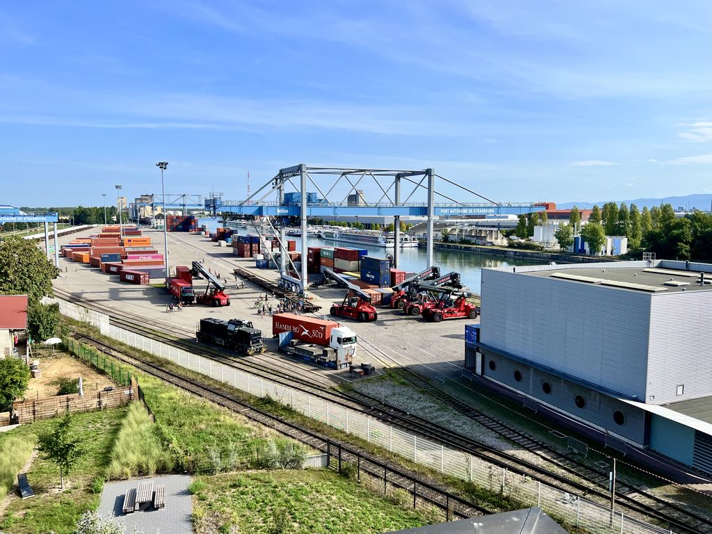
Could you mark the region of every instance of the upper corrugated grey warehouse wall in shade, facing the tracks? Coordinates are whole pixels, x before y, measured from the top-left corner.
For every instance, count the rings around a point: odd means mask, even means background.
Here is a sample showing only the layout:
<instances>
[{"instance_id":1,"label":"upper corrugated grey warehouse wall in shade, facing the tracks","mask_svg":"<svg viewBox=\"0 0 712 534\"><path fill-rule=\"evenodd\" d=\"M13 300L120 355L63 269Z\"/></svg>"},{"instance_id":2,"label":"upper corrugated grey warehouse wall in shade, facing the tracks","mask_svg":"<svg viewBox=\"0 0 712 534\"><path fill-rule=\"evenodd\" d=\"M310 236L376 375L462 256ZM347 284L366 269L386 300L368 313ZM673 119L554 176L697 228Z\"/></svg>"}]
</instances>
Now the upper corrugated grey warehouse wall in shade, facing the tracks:
<instances>
[{"instance_id":1,"label":"upper corrugated grey warehouse wall in shade, facing the tracks","mask_svg":"<svg viewBox=\"0 0 712 534\"><path fill-rule=\"evenodd\" d=\"M481 342L642 401L650 296L485 268Z\"/></svg>"}]
</instances>

